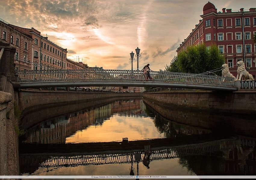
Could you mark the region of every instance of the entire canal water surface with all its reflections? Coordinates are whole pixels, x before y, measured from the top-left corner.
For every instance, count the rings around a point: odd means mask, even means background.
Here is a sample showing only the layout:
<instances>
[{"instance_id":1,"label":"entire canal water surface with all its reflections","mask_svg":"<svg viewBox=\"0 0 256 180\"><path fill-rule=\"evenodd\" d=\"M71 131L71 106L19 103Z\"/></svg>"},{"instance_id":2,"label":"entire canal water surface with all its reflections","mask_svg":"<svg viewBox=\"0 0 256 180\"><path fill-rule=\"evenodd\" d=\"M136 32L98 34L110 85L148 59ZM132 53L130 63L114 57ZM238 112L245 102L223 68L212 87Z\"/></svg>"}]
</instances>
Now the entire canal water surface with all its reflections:
<instances>
[{"instance_id":1,"label":"entire canal water surface with all its reflections","mask_svg":"<svg viewBox=\"0 0 256 180\"><path fill-rule=\"evenodd\" d=\"M115 98L22 122L21 175L256 175L254 117Z\"/></svg>"}]
</instances>

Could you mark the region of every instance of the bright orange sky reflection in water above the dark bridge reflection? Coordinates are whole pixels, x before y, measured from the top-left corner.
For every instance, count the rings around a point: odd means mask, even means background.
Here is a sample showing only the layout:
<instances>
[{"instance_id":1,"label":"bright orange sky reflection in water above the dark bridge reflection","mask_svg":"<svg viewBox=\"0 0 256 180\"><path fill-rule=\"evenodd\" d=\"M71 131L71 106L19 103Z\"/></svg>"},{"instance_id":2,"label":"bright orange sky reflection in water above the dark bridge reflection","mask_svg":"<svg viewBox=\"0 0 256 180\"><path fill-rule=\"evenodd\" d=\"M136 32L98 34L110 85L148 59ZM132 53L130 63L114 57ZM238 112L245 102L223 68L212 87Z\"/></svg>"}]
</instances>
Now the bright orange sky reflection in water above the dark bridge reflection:
<instances>
[{"instance_id":1,"label":"bright orange sky reflection in water above the dark bridge reflection","mask_svg":"<svg viewBox=\"0 0 256 180\"><path fill-rule=\"evenodd\" d=\"M130 141L161 138L164 137L164 134L157 131L149 117L113 115L102 125L91 125L82 131L77 131L74 135L66 138L66 143L122 141L123 137L128 137Z\"/></svg>"}]
</instances>

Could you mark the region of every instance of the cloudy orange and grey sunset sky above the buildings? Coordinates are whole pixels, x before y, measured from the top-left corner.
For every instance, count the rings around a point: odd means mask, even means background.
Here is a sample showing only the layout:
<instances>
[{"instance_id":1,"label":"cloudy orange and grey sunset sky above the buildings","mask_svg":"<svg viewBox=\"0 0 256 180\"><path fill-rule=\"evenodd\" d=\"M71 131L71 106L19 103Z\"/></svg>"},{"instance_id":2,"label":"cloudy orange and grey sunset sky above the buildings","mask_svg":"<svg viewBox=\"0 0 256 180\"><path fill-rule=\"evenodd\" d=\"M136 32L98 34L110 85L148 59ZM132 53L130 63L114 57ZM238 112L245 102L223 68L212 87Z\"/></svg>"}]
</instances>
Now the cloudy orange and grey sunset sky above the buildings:
<instances>
[{"instance_id":1,"label":"cloudy orange and grey sunset sky above the buildings","mask_svg":"<svg viewBox=\"0 0 256 180\"><path fill-rule=\"evenodd\" d=\"M35 28L67 48L67 57L104 69L169 65L176 49L201 19L204 0L0 0L0 18ZM256 7L255 0L212 0L217 11ZM137 57L133 69L137 69Z\"/></svg>"}]
</instances>

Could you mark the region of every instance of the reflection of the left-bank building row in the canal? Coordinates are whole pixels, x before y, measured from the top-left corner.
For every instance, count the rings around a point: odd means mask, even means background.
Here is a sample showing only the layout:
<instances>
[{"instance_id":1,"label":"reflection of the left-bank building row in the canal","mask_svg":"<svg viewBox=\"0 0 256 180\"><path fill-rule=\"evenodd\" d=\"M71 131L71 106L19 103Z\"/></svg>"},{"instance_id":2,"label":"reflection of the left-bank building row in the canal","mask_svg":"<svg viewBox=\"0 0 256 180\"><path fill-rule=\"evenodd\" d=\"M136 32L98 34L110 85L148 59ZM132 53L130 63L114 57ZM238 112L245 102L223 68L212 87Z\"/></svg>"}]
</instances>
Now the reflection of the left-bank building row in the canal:
<instances>
[{"instance_id":1,"label":"reflection of the left-bank building row in the canal","mask_svg":"<svg viewBox=\"0 0 256 180\"><path fill-rule=\"evenodd\" d=\"M42 122L25 133L24 143L65 143L66 137L73 135L76 131L83 130L90 125L101 125L105 120L110 119L113 113L128 112L132 114L139 112L140 99L115 101L94 109L76 111L65 116ZM114 108L114 109L113 109ZM130 111L130 112L129 112Z\"/></svg>"}]
</instances>

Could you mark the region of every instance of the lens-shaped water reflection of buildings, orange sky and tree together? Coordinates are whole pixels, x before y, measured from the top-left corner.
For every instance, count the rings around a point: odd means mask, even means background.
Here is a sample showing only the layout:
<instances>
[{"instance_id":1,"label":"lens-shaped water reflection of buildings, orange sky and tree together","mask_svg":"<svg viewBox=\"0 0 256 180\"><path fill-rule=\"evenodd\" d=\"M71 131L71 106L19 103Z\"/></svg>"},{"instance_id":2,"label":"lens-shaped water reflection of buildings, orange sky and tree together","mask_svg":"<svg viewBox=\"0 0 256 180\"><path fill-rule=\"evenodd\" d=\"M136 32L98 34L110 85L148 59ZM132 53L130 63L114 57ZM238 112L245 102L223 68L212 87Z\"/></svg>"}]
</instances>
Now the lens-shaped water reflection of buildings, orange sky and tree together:
<instances>
[{"instance_id":1,"label":"lens-shaped water reflection of buildings, orange sky and tree together","mask_svg":"<svg viewBox=\"0 0 256 180\"><path fill-rule=\"evenodd\" d=\"M211 131L155 117L142 99L114 101L48 119L29 128L23 143L86 143L208 134Z\"/></svg>"}]
</instances>

